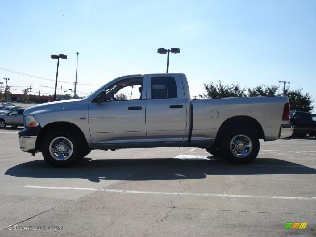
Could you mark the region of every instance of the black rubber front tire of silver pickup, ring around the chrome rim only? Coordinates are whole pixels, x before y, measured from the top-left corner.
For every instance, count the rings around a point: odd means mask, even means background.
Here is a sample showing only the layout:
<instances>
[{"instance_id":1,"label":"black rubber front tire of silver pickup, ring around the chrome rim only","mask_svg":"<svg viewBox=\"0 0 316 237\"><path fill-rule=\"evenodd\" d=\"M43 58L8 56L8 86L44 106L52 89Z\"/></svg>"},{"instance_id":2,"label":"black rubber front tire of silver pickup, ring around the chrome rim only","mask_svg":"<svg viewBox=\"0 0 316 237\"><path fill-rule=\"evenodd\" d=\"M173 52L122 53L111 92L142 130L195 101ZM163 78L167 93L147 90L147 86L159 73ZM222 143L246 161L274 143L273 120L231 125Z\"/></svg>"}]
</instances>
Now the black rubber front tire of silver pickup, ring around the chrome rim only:
<instances>
[{"instance_id":1,"label":"black rubber front tire of silver pickup, ring around the chrome rim only","mask_svg":"<svg viewBox=\"0 0 316 237\"><path fill-rule=\"evenodd\" d=\"M50 143L52 140L56 137L66 137L69 139L73 145L73 152L71 156L65 160L65 161L58 161L52 157L50 154ZM69 167L73 165L75 162L77 162L80 158L82 158L82 142L79 139L80 136L78 136L75 132L70 130L63 130L58 129L55 131L49 132L42 143L42 154L45 159L45 161L54 167Z\"/></svg>"}]
</instances>

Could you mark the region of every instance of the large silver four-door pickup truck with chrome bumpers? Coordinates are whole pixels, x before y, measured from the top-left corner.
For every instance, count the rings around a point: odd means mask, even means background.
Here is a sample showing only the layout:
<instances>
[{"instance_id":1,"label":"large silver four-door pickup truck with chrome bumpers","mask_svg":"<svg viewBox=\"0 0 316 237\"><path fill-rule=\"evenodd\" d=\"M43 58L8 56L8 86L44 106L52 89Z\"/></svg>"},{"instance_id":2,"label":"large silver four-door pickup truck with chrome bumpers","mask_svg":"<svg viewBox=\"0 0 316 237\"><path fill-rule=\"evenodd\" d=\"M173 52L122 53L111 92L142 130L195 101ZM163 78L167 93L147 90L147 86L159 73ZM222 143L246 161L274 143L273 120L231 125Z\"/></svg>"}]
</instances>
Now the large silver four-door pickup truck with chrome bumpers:
<instances>
[{"instance_id":1,"label":"large silver four-door pickup truck with chrome bumpers","mask_svg":"<svg viewBox=\"0 0 316 237\"><path fill-rule=\"evenodd\" d=\"M285 96L191 100L184 74L122 76L82 100L24 111L20 149L70 166L92 149L199 147L234 164L253 161L259 139L289 137Z\"/></svg>"}]
</instances>

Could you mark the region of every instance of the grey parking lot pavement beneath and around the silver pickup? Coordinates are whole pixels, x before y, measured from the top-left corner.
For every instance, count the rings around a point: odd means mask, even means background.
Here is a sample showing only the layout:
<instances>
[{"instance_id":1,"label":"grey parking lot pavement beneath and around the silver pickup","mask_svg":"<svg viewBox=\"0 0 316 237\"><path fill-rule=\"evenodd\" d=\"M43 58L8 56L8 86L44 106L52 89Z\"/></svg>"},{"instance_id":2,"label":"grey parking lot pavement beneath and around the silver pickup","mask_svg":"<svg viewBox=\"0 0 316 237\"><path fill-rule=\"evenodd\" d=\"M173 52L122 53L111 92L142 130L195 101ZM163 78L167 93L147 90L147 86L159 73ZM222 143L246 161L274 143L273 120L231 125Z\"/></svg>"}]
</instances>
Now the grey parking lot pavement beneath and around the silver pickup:
<instances>
[{"instance_id":1,"label":"grey parking lot pavement beneath and around the silver pickup","mask_svg":"<svg viewBox=\"0 0 316 237\"><path fill-rule=\"evenodd\" d=\"M316 236L315 138L260 141L245 166L146 148L52 168L20 151L18 131L0 131L0 236Z\"/></svg>"}]
</instances>

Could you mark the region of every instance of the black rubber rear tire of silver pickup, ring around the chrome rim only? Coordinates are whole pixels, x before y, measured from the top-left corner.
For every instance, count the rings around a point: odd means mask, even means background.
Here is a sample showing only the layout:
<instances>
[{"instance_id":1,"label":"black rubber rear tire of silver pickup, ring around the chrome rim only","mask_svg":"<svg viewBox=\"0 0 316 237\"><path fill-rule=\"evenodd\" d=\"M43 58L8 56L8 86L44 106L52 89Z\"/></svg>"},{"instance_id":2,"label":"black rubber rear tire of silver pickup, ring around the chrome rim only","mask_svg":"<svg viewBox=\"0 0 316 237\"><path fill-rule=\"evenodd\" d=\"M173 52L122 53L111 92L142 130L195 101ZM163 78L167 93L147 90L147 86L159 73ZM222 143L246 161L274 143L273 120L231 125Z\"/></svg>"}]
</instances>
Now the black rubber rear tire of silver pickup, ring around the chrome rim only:
<instances>
[{"instance_id":1,"label":"black rubber rear tire of silver pickup, ring around the chrome rim only","mask_svg":"<svg viewBox=\"0 0 316 237\"><path fill-rule=\"evenodd\" d=\"M232 140L234 136L238 134L246 135L247 137L250 138L252 142L252 151L245 158L238 158L234 156L230 150L230 141ZM256 159L259 153L259 150L260 150L260 143L259 143L259 139L255 133L254 128L252 129L252 127L245 126L245 127L226 129L224 131L224 134L221 139L221 152L228 162L233 163L235 165L248 164L254 161L254 159Z\"/></svg>"}]
</instances>

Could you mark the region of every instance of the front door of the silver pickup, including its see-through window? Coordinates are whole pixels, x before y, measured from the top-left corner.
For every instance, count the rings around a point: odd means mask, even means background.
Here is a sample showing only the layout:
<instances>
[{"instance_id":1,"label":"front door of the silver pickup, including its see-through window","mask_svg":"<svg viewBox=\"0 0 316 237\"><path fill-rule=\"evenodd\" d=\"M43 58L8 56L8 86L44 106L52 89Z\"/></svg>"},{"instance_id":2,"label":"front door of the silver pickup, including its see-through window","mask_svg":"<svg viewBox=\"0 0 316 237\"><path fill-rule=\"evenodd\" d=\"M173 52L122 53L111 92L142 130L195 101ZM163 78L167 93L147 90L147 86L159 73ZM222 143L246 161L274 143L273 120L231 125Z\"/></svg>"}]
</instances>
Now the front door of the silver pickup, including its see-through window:
<instances>
[{"instance_id":1,"label":"front door of the silver pickup, including its see-through window","mask_svg":"<svg viewBox=\"0 0 316 237\"><path fill-rule=\"evenodd\" d=\"M145 87L143 76L123 78L105 89L104 101L90 101L89 127L94 147L147 142L146 101L142 99Z\"/></svg>"}]
</instances>

